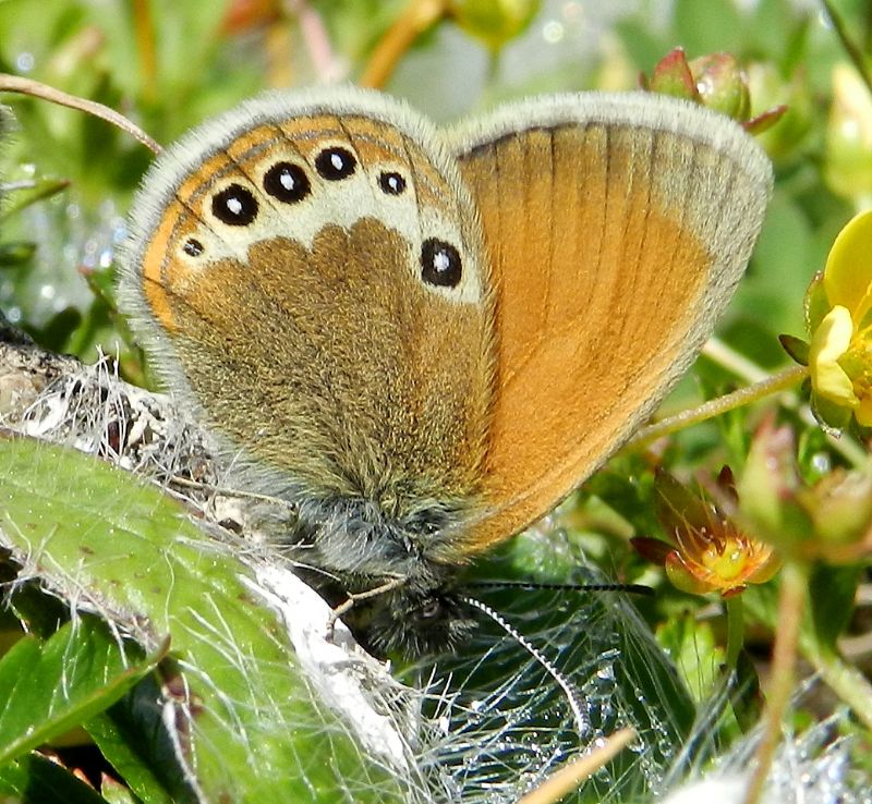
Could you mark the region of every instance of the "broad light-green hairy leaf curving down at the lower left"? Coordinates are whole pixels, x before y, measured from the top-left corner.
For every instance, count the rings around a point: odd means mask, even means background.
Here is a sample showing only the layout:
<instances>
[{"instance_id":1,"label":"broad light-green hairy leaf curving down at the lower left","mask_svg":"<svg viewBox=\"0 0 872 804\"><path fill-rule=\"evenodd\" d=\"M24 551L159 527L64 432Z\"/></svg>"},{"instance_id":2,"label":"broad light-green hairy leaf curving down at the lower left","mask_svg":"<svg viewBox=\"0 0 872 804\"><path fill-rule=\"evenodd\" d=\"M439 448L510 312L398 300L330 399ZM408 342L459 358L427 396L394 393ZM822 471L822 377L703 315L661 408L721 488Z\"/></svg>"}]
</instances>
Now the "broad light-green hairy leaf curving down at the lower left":
<instances>
[{"instance_id":1,"label":"broad light-green hairy leaf curving down at the lower left","mask_svg":"<svg viewBox=\"0 0 872 804\"><path fill-rule=\"evenodd\" d=\"M184 659L174 684L189 695L177 710L190 715L179 758L208 799L399 799L409 780L367 757L313 697L284 623L242 581L252 570L178 503L94 458L27 439L0 441L0 546L34 564L38 545L45 583L171 635Z\"/></svg>"}]
</instances>

